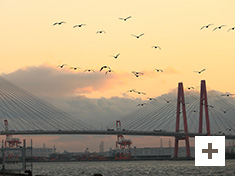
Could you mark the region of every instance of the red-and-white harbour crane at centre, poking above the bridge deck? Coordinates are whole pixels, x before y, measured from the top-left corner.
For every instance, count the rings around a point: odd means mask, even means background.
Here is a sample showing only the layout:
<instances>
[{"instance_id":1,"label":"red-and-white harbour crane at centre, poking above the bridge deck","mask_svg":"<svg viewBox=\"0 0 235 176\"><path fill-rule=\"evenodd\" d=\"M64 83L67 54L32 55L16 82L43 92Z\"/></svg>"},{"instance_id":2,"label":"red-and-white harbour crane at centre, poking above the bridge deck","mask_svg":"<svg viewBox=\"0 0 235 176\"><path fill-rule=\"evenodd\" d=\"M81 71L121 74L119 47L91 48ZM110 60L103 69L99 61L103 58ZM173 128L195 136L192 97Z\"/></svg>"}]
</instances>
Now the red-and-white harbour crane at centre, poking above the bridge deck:
<instances>
[{"instance_id":1,"label":"red-and-white harbour crane at centre, poking above the bridge deck","mask_svg":"<svg viewBox=\"0 0 235 176\"><path fill-rule=\"evenodd\" d=\"M117 131L122 131L121 129L121 121L116 121L116 127ZM117 141L116 141L116 154L115 159L116 160L123 160L123 159L130 159L131 153L130 153L130 147L131 147L131 140L124 139L122 134L117 135Z\"/></svg>"}]
</instances>

